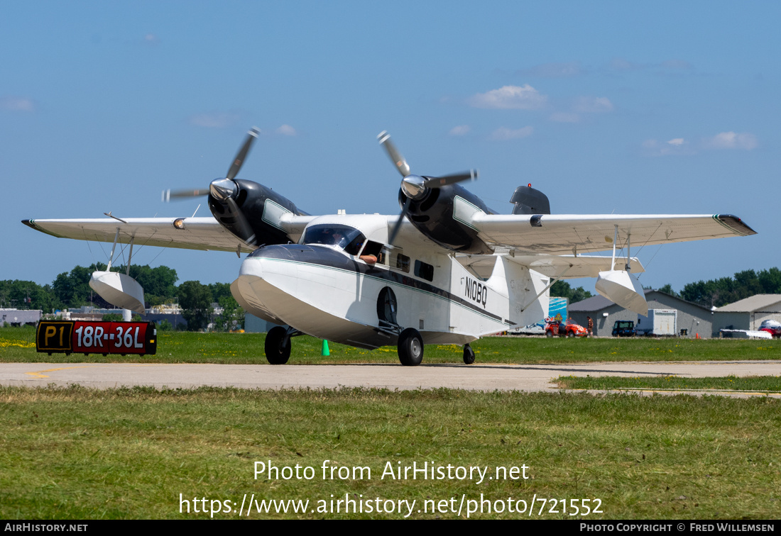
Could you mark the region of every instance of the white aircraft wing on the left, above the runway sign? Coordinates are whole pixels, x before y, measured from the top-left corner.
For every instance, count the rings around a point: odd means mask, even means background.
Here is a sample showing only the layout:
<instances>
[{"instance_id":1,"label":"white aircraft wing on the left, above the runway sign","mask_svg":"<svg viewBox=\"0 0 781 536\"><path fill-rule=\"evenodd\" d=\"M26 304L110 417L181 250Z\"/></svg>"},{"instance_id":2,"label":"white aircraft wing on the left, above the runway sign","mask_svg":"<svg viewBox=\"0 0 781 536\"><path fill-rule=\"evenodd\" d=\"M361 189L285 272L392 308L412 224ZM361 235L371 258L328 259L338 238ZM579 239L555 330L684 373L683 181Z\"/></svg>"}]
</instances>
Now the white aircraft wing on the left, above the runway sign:
<instances>
[{"instance_id":1,"label":"white aircraft wing on the left, above the runway sign","mask_svg":"<svg viewBox=\"0 0 781 536\"><path fill-rule=\"evenodd\" d=\"M283 215L280 225L291 238L298 240L306 224L314 216ZM180 222L174 226L174 222ZM230 233L211 216L205 218L95 218L95 219L29 219L23 224L58 238L114 241L119 230L119 243L138 246L178 247L187 250L218 250L250 252L249 246Z\"/></svg>"}]
</instances>

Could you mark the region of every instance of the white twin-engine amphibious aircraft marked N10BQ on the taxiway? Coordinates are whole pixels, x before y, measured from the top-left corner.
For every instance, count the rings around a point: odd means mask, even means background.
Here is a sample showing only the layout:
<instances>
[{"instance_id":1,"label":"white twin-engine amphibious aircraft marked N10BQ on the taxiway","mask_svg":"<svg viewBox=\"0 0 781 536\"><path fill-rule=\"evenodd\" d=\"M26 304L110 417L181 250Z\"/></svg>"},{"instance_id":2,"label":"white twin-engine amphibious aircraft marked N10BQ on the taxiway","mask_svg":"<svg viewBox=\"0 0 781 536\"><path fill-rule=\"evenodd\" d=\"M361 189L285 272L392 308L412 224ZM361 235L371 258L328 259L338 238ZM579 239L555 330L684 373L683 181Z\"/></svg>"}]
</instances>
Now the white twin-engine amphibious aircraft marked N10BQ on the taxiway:
<instances>
[{"instance_id":1,"label":"white twin-engine amphibious aircraft marked N10BQ on the taxiway","mask_svg":"<svg viewBox=\"0 0 781 536\"><path fill-rule=\"evenodd\" d=\"M596 277L597 292L647 314L629 272L644 268L632 244L755 234L732 215L552 215L544 193L515 190L512 214L490 210L459 186L475 171L419 176L383 132L378 139L401 174L401 215L322 215L299 210L266 186L236 179L257 130L208 189L163 193L165 200L209 196L209 218L25 220L76 240L248 253L230 286L242 307L277 327L266 357L284 364L291 337L313 335L360 348L397 345L417 365L424 344L464 345L547 316L562 278ZM626 247L617 258L616 247ZM611 250L611 257L592 255ZM112 252L113 255L113 252ZM95 272L93 288L119 307L141 309L143 289L127 275Z\"/></svg>"}]
</instances>

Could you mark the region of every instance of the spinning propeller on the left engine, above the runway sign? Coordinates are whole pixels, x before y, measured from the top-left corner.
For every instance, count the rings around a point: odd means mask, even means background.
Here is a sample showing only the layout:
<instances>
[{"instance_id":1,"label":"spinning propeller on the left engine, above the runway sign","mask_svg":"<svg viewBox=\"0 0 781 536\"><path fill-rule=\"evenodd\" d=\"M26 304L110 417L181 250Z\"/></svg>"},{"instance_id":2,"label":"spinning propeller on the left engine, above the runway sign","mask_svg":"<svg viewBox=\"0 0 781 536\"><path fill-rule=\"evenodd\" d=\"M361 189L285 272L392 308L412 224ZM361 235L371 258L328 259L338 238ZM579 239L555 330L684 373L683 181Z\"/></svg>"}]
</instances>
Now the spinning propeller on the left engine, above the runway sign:
<instances>
[{"instance_id":1,"label":"spinning propeller on the left engine, above the runway sign","mask_svg":"<svg viewBox=\"0 0 781 536\"><path fill-rule=\"evenodd\" d=\"M247 217L236 203L236 196L239 192L239 186L234 179L238 175L241 166L244 165L244 160L246 160L250 147L252 147L252 142L254 142L255 138L258 137L259 132L260 131L255 127L248 131L247 139L244 140L244 145L242 145L241 149L239 149L239 152L236 154L236 158L234 158L234 162L230 165L230 168L228 168L228 173L224 178L212 180L212 183L209 184L209 188L205 190L163 190L162 201L167 202L171 201L172 199L184 199L187 197L209 195L215 201L225 204L228 211L230 212L230 215L234 215L236 217L238 227L237 236L250 245L256 245L255 231L252 230Z\"/></svg>"}]
</instances>

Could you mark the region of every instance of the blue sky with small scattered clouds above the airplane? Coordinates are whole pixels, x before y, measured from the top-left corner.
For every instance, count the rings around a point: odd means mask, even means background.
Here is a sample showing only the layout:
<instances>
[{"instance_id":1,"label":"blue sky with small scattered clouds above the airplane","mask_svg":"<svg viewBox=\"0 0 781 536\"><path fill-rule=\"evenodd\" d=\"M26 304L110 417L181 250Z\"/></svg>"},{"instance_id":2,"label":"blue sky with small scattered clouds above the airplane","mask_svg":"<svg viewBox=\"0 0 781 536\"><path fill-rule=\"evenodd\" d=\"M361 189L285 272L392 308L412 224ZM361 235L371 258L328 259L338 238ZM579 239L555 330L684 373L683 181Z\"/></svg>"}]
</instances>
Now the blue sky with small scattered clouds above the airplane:
<instances>
[{"instance_id":1,"label":"blue sky with small scattered clouds above the airplane","mask_svg":"<svg viewBox=\"0 0 781 536\"><path fill-rule=\"evenodd\" d=\"M312 214L397 214L413 172L480 169L567 214L734 214L757 236L647 247L646 286L781 266L778 2L12 2L0 17L0 279L52 282L110 244L24 218L191 215L166 188L241 178ZM198 215L208 215L201 206ZM145 248L180 282L235 254ZM581 284L576 282L576 285ZM587 289L591 282L583 280Z\"/></svg>"}]
</instances>

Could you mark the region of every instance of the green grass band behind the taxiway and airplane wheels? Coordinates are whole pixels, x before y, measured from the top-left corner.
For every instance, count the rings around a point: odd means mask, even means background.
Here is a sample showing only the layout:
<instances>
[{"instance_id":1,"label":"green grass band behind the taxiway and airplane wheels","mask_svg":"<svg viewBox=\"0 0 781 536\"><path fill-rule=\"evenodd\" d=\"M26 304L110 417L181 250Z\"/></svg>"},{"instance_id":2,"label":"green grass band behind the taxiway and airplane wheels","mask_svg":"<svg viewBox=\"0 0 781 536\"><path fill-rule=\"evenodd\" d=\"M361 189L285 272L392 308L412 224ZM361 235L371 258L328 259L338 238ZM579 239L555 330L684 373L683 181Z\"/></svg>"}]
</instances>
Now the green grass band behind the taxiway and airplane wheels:
<instances>
[{"instance_id":1,"label":"green grass band behind the taxiway and airplane wheels","mask_svg":"<svg viewBox=\"0 0 781 536\"><path fill-rule=\"evenodd\" d=\"M0 362L266 363L262 333L159 332L155 356L37 353L34 328L0 328ZM361 350L309 336L293 339L291 364L398 363L394 346ZM477 363L551 364L597 361L776 360L781 343L737 339L545 339L484 337L472 344ZM424 363L460 363L462 347L427 345Z\"/></svg>"}]
</instances>

